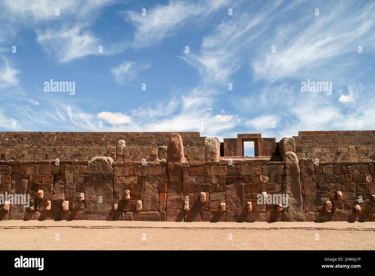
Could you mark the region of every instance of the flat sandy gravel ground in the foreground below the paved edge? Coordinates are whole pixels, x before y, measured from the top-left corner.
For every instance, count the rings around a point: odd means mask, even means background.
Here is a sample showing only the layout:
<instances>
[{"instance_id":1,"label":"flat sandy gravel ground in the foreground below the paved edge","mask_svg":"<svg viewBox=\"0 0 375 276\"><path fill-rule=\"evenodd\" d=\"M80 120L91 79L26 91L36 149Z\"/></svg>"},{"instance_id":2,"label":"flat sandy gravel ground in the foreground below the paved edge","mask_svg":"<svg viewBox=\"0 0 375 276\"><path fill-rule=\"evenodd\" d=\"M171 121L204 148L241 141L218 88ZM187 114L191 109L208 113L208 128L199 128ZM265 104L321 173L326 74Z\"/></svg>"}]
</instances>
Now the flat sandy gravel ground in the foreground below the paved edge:
<instances>
[{"instance_id":1,"label":"flat sandy gravel ground in the foreground below the paved edge","mask_svg":"<svg viewBox=\"0 0 375 276\"><path fill-rule=\"evenodd\" d=\"M0 250L372 250L375 246L374 231L316 229L51 227L0 229L0 237L6 241Z\"/></svg>"}]
</instances>

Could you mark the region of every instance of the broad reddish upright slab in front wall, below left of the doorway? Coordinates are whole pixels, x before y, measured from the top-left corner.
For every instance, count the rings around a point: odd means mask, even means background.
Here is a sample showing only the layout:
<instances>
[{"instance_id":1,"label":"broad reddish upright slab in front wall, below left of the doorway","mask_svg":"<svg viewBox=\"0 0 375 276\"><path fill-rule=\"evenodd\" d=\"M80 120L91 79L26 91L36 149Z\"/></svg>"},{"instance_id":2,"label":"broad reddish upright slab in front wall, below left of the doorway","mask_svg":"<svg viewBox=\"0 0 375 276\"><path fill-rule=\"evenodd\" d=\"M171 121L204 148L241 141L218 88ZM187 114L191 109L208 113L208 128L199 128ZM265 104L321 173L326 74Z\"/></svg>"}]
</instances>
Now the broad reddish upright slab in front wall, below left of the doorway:
<instances>
[{"instance_id":1,"label":"broad reddish upright slab in front wall, below left of the doorway","mask_svg":"<svg viewBox=\"0 0 375 276\"><path fill-rule=\"evenodd\" d=\"M232 178L226 181L225 203L226 221L245 222L247 213L246 184L243 179Z\"/></svg>"}]
</instances>

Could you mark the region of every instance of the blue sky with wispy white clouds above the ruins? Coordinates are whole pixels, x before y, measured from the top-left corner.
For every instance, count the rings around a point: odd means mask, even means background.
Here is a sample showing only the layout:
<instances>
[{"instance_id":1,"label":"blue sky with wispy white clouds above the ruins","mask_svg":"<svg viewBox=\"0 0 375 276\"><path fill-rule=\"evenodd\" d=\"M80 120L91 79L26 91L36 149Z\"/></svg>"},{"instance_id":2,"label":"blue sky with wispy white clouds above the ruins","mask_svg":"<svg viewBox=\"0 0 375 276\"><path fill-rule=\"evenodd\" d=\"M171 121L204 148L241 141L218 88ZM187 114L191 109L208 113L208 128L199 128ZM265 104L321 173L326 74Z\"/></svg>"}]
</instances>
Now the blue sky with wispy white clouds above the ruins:
<instances>
[{"instance_id":1,"label":"blue sky with wispy white clouds above the ruins","mask_svg":"<svg viewBox=\"0 0 375 276\"><path fill-rule=\"evenodd\" d=\"M375 129L374 23L372 1L4 0L0 130ZM45 92L51 79L74 95Z\"/></svg>"}]
</instances>

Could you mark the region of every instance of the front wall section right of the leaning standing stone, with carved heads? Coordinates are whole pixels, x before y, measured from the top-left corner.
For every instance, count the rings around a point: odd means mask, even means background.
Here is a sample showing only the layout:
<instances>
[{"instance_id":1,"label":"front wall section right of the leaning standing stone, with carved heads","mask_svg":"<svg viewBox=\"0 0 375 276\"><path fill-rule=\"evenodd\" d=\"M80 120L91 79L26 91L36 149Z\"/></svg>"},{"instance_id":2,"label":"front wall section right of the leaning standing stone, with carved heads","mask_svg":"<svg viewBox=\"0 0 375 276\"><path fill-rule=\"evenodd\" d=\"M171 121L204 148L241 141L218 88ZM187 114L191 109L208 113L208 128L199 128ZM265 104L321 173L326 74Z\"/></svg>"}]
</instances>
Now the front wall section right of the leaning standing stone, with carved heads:
<instances>
[{"instance_id":1,"label":"front wall section right of the leaning standing stone, with carved heads","mask_svg":"<svg viewBox=\"0 0 375 276\"><path fill-rule=\"evenodd\" d=\"M305 205L306 221L375 221L374 177L374 162L314 165L310 178L315 180L316 196L305 189L305 201L313 198L316 206L306 209Z\"/></svg>"}]
</instances>

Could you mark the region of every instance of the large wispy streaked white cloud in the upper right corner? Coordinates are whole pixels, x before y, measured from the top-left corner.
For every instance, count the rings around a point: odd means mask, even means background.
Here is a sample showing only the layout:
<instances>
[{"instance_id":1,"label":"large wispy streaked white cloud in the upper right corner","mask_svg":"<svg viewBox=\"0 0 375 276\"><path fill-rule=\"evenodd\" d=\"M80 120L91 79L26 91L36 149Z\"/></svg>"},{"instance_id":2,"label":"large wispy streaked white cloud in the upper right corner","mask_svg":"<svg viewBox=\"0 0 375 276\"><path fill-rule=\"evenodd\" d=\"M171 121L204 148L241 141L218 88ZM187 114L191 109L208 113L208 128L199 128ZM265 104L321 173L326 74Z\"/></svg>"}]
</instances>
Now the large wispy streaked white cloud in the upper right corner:
<instances>
[{"instance_id":1,"label":"large wispy streaked white cloud in the upper right corner","mask_svg":"<svg viewBox=\"0 0 375 276\"><path fill-rule=\"evenodd\" d=\"M266 50L262 47L251 63L255 75L268 80L298 78L302 74L327 77L324 66L329 60L330 71L336 71L332 66L342 69L340 64L343 62L334 62L332 58L356 53L359 41L374 45L375 5L366 5L356 11L336 6L331 10L327 8L325 13L309 18L310 24L303 18L281 26L265 43L268 45ZM276 46L276 53L271 52L272 45ZM344 62L348 61L344 59ZM340 75L340 72L336 74Z\"/></svg>"}]
</instances>

